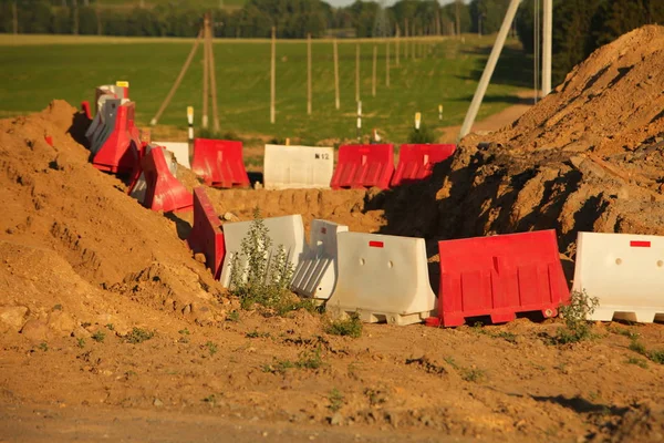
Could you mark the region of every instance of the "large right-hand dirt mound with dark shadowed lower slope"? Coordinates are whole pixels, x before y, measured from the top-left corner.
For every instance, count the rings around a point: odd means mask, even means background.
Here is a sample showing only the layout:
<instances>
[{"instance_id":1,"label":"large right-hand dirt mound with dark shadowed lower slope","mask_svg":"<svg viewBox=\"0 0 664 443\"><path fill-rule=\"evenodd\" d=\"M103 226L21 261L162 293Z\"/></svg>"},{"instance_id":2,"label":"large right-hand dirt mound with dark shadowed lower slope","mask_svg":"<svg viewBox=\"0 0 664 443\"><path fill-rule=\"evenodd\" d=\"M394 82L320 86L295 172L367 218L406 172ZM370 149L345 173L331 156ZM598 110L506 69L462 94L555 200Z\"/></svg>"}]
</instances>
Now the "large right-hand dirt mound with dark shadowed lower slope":
<instances>
[{"instance_id":1,"label":"large right-hand dirt mound with dark shadowed lower slope","mask_svg":"<svg viewBox=\"0 0 664 443\"><path fill-rule=\"evenodd\" d=\"M664 28L600 48L511 125L465 137L432 179L384 197L388 234L664 234ZM433 241L430 254L435 254Z\"/></svg>"}]
</instances>

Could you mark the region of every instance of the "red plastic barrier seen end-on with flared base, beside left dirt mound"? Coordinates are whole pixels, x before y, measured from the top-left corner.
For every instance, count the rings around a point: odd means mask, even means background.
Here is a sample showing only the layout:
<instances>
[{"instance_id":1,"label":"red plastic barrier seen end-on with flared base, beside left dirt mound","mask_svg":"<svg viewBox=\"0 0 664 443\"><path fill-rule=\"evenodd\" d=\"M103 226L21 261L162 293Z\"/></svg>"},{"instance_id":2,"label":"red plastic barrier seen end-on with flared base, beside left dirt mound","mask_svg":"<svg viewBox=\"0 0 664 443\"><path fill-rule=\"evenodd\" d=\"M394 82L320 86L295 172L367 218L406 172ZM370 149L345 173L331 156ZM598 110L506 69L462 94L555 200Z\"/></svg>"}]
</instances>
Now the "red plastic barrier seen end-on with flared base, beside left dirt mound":
<instances>
[{"instance_id":1,"label":"red plastic barrier seen end-on with flared base, beside left dirt mound","mask_svg":"<svg viewBox=\"0 0 664 443\"><path fill-rule=\"evenodd\" d=\"M170 174L164 148L155 147L141 161L147 190L143 206L153 210L170 213L174 210L191 210L194 197L187 188Z\"/></svg>"}]
</instances>

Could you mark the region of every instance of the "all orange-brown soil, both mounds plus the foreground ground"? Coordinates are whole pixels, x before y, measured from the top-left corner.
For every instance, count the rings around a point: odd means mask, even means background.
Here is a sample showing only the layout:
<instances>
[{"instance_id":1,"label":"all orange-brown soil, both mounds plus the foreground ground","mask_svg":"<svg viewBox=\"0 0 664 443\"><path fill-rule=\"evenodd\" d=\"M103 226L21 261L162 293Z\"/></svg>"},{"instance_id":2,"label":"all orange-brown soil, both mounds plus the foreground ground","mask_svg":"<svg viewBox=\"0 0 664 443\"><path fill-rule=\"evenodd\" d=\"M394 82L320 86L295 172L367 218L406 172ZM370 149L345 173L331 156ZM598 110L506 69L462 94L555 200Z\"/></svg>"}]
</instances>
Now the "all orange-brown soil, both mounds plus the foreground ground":
<instances>
[{"instance_id":1,"label":"all orange-brown soil, both mounds plus the foreground ground","mask_svg":"<svg viewBox=\"0 0 664 443\"><path fill-rule=\"evenodd\" d=\"M234 220L422 236L432 269L442 238L556 228L573 266L579 230L663 230L662 48L658 27L601 48L421 184L209 195ZM351 339L318 313L240 310L186 248L190 213L93 168L84 124L60 101L0 121L0 441L664 441L664 365L630 349L662 349L662 324L566 346L559 320L526 318Z\"/></svg>"}]
</instances>

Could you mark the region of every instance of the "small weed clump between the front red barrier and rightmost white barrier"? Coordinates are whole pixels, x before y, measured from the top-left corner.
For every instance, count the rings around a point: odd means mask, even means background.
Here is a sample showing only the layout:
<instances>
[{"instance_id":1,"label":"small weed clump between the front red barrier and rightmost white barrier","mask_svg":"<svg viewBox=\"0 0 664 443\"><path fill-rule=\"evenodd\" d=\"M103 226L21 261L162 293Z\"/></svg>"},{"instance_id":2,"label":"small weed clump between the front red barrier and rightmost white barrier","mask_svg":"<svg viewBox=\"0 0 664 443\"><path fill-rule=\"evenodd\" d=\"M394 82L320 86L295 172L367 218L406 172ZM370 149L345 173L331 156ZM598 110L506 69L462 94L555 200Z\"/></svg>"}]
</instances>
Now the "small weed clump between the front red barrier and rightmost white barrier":
<instances>
[{"instance_id":1,"label":"small weed clump between the front red barrier and rightmost white barrier","mask_svg":"<svg viewBox=\"0 0 664 443\"><path fill-rule=\"evenodd\" d=\"M570 303L561 305L560 316L564 320L564 328L559 328L553 341L558 344L577 343L592 338L588 316L594 312L599 305L596 297L590 297L585 290L572 291Z\"/></svg>"}]
</instances>

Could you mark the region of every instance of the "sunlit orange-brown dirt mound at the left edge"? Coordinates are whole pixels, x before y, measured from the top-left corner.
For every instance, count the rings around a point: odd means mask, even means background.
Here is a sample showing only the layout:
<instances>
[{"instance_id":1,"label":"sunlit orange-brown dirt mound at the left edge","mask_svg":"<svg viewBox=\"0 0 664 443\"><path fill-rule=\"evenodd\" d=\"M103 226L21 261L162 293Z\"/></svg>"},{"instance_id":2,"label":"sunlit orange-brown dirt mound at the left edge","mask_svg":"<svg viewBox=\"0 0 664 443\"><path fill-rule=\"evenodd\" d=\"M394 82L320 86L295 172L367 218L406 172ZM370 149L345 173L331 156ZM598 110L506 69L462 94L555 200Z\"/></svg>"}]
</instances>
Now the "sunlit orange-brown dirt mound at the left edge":
<instances>
[{"instance_id":1,"label":"sunlit orange-brown dirt mound at the left edge","mask_svg":"<svg viewBox=\"0 0 664 443\"><path fill-rule=\"evenodd\" d=\"M145 276L159 290L152 288L142 306L173 307L184 316L214 303L221 289L191 259L176 224L143 208L120 179L89 163L89 152L74 140L81 119L54 101L41 113L0 121L0 254L8 264L0 272L11 281L0 306L27 308L25 322L48 320L55 305L75 324L91 322L114 311L107 302L117 301L114 293L141 299ZM123 312L123 322L141 320L133 311ZM200 306L198 312L205 321L214 317Z\"/></svg>"}]
</instances>

